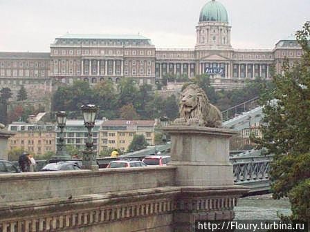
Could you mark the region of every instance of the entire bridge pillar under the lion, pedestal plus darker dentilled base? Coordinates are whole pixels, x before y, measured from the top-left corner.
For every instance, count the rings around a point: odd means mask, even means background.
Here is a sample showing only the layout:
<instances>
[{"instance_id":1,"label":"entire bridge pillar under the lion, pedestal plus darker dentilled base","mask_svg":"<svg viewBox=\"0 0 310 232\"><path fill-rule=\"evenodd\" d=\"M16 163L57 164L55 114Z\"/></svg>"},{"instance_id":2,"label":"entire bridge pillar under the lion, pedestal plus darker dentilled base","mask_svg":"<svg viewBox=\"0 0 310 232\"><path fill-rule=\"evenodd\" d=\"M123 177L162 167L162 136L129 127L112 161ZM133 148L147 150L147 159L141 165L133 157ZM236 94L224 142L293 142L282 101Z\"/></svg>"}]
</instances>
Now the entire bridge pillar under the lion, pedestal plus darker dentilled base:
<instances>
[{"instance_id":1,"label":"entire bridge pillar under the lion, pedestal plus darker dentilled base","mask_svg":"<svg viewBox=\"0 0 310 232\"><path fill-rule=\"evenodd\" d=\"M229 139L237 132L224 128L173 125L171 162L175 182L181 187L176 199L174 231L194 231L195 220L230 220L237 198L248 189L234 186L229 161Z\"/></svg>"}]
</instances>

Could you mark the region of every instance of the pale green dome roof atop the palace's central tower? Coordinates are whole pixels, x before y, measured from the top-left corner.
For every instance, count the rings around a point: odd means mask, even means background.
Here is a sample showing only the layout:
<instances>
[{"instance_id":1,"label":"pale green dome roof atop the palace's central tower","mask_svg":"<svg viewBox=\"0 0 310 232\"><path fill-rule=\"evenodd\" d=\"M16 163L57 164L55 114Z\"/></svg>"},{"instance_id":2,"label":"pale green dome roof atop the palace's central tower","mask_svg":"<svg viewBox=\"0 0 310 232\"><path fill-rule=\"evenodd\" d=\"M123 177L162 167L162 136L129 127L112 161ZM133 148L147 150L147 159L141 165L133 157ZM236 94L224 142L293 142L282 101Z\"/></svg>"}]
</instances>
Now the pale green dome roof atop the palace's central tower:
<instances>
[{"instance_id":1,"label":"pale green dome roof atop the palace's central tower","mask_svg":"<svg viewBox=\"0 0 310 232\"><path fill-rule=\"evenodd\" d=\"M220 21L228 23L227 10L219 1L209 1L201 9L199 22L201 21Z\"/></svg>"}]
</instances>

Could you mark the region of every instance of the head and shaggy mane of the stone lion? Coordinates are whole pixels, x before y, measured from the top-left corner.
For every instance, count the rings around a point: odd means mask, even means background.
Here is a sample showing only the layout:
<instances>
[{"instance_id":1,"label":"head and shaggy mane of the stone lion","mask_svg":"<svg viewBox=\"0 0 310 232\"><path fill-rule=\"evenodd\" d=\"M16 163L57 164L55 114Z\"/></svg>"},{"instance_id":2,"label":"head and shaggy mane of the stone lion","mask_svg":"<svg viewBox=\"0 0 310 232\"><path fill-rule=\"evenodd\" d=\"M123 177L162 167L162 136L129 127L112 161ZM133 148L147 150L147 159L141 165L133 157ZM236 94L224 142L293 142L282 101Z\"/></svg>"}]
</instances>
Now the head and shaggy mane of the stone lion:
<instances>
[{"instance_id":1,"label":"head and shaggy mane of the stone lion","mask_svg":"<svg viewBox=\"0 0 310 232\"><path fill-rule=\"evenodd\" d=\"M210 106L210 101L199 86L196 84L190 84L187 86L181 95L180 101L180 115L185 117L197 117L203 113L206 113Z\"/></svg>"}]
</instances>

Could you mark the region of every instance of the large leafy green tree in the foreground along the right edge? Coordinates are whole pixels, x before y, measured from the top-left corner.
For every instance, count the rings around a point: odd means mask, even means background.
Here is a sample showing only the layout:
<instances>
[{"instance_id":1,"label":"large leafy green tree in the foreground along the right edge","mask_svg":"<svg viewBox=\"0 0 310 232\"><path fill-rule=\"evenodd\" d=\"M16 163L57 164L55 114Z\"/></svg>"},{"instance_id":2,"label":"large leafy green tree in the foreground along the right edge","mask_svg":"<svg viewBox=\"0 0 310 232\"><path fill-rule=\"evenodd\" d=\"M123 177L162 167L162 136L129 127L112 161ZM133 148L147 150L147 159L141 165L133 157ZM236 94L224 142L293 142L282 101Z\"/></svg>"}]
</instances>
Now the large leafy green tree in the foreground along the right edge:
<instances>
[{"instance_id":1,"label":"large leafy green tree in the foreground along the right edge","mask_svg":"<svg viewBox=\"0 0 310 232\"><path fill-rule=\"evenodd\" d=\"M293 67L286 61L283 74L273 78L275 89L264 95L260 145L275 154L270 173L273 197L289 197L291 219L310 220L310 23L296 36L302 59Z\"/></svg>"}]
</instances>

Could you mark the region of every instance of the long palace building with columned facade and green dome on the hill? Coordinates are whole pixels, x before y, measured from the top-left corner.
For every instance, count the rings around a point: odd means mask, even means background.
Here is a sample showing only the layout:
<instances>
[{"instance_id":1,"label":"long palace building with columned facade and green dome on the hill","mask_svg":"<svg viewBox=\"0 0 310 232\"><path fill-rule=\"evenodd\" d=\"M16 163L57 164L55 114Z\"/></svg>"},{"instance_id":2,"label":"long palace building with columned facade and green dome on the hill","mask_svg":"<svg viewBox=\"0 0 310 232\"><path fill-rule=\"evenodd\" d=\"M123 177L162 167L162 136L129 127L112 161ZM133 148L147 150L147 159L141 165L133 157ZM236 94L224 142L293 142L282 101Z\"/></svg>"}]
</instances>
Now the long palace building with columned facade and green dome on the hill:
<instances>
[{"instance_id":1,"label":"long palace building with columned facade and green dome on the hill","mask_svg":"<svg viewBox=\"0 0 310 232\"><path fill-rule=\"evenodd\" d=\"M293 64L302 55L293 37L270 50L235 49L231 29L226 8L212 0L201 9L196 45L189 50L158 49L141 35L64 35L51 52L0 52L0 86L16 95L24 85L30 99L42 99L57 84L78 79L93 85L131 77L140 85L208 73L215 88L235 88L247 79L271 79L271 67L281 72L284 59Z\"/></svg>"}]
</instances>

